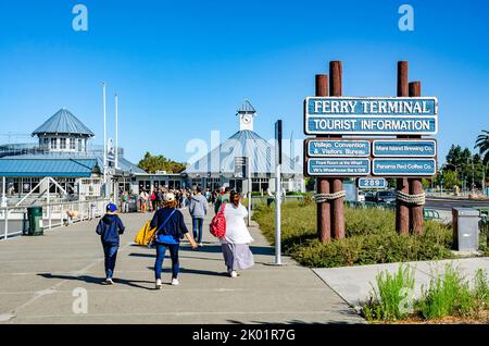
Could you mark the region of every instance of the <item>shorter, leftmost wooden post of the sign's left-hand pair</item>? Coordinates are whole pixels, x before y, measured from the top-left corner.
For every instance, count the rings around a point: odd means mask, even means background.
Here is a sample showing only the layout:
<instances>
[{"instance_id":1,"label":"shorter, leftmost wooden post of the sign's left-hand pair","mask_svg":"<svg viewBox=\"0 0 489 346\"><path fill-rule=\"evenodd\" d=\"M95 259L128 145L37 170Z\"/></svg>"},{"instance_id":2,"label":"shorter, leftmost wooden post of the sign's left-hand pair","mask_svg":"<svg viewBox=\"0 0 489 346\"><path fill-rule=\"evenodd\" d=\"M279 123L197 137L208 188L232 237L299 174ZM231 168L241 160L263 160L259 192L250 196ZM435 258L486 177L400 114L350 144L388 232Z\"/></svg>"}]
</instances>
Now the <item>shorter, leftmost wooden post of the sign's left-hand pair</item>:
<instances>
[{"instance_id":1,"label":"shorter, leftmost wooden post of the sign's left-hand pair","mask_svg":"<svg viewBox=\"0 0 489 346\"><path fill-rule=\"evenodd\" d=\"M316 96L328 96L328 76L325 74L316 75ZM317 177L317 193L330 194L327 178ZM317 203L317 233L321 243L326 244L331 240L331 209L329 202Z\"/></svg>"}]
</instances>

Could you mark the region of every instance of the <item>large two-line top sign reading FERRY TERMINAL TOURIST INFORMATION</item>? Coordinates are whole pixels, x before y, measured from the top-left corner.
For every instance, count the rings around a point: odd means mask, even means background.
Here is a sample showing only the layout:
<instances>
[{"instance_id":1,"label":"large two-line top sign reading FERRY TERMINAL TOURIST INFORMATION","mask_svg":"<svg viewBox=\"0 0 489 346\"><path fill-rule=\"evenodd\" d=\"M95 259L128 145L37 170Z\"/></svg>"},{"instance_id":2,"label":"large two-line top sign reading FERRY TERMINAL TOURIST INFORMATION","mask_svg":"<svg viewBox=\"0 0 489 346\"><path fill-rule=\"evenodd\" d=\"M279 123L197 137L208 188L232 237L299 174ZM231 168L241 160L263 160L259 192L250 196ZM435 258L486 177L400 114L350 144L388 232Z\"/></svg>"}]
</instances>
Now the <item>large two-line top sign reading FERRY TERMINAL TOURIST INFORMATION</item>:
<instances>
[{"instance_id":1,"label":"large two-line top sign reading FERRY TERMINAL TOURIST INFORMATION","mask_svg":"<svg viewBox=\"0 0 489 346\"><path fill-rule=\"evenodd\" d=\"M308 97L306 135L436 135L435 97Z\"/></svg>"}]
</instances>

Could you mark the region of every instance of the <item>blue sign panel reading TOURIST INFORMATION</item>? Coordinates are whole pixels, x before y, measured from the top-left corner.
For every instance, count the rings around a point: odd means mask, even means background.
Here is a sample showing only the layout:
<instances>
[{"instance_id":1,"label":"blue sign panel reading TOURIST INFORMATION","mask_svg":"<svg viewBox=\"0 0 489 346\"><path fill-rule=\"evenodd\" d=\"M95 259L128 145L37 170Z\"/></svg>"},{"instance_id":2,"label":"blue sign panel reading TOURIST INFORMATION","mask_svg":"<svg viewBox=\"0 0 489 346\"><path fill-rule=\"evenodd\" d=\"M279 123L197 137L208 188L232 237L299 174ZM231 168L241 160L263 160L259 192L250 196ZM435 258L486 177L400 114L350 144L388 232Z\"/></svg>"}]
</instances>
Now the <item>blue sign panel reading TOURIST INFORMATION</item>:
<instances>
[{"instance_id":1,"label":"blue sign panel reading TOURIST INFORMATION","mask_svg":"<svg viewBox=\"0 0 489 346\"><path fill-rule=\"evenodd\" d=\"M436 135L435 116L309 116L308 135Z\"/></svg>"}]
</instances>

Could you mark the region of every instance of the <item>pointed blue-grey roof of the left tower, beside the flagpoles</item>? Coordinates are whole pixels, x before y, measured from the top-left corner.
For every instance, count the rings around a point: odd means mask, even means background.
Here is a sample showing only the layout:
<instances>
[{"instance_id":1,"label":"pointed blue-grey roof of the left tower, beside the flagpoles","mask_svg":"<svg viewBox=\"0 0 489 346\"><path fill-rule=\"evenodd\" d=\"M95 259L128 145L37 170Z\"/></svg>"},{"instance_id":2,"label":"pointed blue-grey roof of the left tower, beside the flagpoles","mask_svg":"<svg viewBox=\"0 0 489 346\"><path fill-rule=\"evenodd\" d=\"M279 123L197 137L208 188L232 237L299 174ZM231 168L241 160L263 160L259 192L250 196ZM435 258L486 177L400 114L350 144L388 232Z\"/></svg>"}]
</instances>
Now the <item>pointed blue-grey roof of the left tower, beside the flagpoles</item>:
<instances>
[{"instance_id":1,"label":"pointed blue-grey roof of the left tower, beside the flagpoles","mask_svg":"<svg viewBox=\"0 0 489 346\"><path fill-rule=\"evenodd\" d=\"M33 132L33 136L45 134L66 134L93 137L95 134L66 109L59 110Z\"/></svg>"}]
</instances>

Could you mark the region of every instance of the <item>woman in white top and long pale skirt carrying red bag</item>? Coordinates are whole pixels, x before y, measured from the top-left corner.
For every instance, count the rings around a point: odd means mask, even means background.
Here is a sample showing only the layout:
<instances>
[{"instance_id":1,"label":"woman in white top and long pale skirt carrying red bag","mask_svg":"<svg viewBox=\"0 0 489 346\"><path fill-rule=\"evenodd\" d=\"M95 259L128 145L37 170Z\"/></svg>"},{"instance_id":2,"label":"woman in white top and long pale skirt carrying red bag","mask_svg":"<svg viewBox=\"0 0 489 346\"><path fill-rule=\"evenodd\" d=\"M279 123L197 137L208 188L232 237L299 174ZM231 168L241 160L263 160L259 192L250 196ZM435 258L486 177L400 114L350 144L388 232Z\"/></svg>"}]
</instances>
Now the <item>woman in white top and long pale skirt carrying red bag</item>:
<instances>
[{"instance_id":1,"label":"woman in white top and long pale skirt carrying red bag","mask_svg":"<svg viewBox=\"0 0 489 346\"><path fill-rule=\"evenodd\" d=\"M226 234L221 238L221 244L227 273L231 277L238 277L238 270L254 265L253 254L249 246L254 239L244 223L248 210L241 205L241 197L238 193L231 191L229 200L224 209Z\"/></svg>"}]
</instances>

